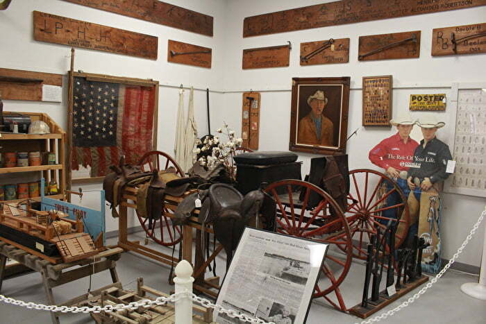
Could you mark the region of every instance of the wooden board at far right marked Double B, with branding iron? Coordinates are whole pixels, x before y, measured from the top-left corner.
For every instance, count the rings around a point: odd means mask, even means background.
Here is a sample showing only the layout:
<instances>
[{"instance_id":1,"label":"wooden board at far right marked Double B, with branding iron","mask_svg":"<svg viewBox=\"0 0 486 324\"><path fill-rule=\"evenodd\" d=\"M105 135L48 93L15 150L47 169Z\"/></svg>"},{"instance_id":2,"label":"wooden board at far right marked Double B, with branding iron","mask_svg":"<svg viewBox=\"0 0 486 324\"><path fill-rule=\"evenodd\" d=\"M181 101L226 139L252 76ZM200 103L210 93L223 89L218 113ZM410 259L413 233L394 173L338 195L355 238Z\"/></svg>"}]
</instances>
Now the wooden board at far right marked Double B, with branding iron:
<instances>
[{"instance_id":1,"label":"wooden board at far right marked Double B, with branding iron","mask_svg":"<svg viewBox=\"0 0 486 324\"><path fill-rule=\"evenodd\" d=\"M432 56L475 53L486 53L486 23L435 28L432 31Z\"/></svg>"}]
</instances>

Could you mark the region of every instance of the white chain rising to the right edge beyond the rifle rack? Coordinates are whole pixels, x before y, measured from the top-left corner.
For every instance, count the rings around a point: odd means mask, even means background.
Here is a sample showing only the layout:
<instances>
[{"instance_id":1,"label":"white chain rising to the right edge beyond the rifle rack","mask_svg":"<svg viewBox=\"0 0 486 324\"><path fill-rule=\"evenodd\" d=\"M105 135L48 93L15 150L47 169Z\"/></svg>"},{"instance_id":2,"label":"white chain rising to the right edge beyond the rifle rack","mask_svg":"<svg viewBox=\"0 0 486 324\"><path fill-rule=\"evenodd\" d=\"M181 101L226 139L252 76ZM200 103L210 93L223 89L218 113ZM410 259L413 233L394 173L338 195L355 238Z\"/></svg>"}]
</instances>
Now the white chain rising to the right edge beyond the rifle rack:
<instances>
[{"instance_id":1,"label":"white chain rising to the right edge beyond the rifle rack","mask_svg":"<svg viewBox=\"0 0 486 324\"><path fill-rule=\"evenodd\" d=\"M432 280L430 280L430 282L428 282L425 287L422 287L422 289L420 289L418 293L415 293L414 296L408 298L408 300L405 300L405 302L402 302L401 305L398 305L394 309L390 309L386 313L383 313L383 314L381 314L379 316L376 316L374 318L371 318L368 321L362 321L361 324L371 324L371 323L374 323L374 322L379 322L379 321L381 321L381 320L383 320L383 319L385 319L385 318L387 318L389 316L392 316L396 312L399 312L399 310L407 307L412 302L414 302L415 300L417 300L418 298L420 298L420 296L423 295L427 291L427 289L429 289L430 287L432 287L433 284L435 284L435 282L437 282L437 280L439 280L439 278L441 278L442 275L444 275L444 273L446 273L446 271L455 262L455 259L457 259L459 257L459 255L462 253L462 250L464 250L464 248L467 246L467 244L469 243L469 241L472 239L474 233L476 233L476 230L478 230L479 225L483 221L485 215L486 215L486 210L484 210L481 213L481 215L479 216L478 221L476 222L476 224L474 224L471 232L469 232L469 235L467 235L466 239L464 239L464 241L462 242L461 246L458 248L458 251L456 253L454 253L453 257L449 260L449 262L447 262L447 264L444 266L444 268L442 268L442 270L434 278L432 278ZM355 324L358 324L358 323L355 323Z\"/></svg>"}]
</instances>

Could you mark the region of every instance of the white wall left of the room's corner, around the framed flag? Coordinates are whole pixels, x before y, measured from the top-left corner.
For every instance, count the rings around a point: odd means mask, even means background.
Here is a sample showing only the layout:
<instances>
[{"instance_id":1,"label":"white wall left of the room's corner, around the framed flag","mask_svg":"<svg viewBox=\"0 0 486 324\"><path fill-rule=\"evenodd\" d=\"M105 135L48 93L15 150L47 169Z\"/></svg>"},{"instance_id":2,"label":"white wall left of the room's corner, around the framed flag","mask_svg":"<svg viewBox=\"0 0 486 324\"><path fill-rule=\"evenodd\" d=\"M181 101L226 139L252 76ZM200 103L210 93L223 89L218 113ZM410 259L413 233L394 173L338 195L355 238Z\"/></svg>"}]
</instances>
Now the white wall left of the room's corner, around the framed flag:
<instances>
[{"instance_id":1,"label":"white wall left of the room's corner, around the framed flag","mask_svg":"<svg viewBox=\"0 0 486 324\"><path fill-rule=\"evenodd\" d=\"M226 3L223 0L169 0L166 2L214 17L214 36L190 33L103 10L78 6L66 1L16 0L12 1L7 10L0 11L0 67L57 74L66 74L69 70L69 46L33 40L33 10L157 36L158 60L76 49L74 69L112 76L158 80L161 85L158 107L158 149L173 154L178 85L183 83L184 87L193 85L199 89L206 89L206 87L216 89L222 84L219 75L223 70L224 51L218 49L221 49L224 44ZM212 68L204 69L167 62L167 40L169 39L212 48ZM64 78L63 84L67 85L67 77ZM177 87L167 87L167 85ZM62 103L4 101L3 109L19 112L46 112L67 130L67 86L64 87L64 90ZM211 109L217 110L221 96L217 92L210 94ZM185 91L186 109L188 103L189 91ZM205 135L208 133L206 91L196 90L194 92L194 110L196 121L199 122L199 134ZM74 188L77 187L78 185L74 186ZM85 190L101 189L101 185L83 187ZM97 197L97 194L87 193L81 204L87 207L99 207ZM107 231L117 230L117 221L114 221L109 213L106 221ZM133 217L130 225L137 225Z\"/></svg>"}]
</instances>

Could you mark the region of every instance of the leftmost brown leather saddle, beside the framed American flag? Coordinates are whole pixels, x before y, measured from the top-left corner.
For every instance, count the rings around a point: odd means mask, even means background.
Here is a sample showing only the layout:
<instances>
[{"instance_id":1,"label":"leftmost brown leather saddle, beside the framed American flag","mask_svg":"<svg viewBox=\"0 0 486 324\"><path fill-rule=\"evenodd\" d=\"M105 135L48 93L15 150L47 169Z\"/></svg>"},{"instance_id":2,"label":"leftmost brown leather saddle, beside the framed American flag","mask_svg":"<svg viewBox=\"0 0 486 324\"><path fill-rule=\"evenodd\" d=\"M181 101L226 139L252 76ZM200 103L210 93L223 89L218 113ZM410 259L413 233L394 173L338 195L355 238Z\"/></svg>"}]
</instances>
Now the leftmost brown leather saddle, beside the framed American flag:
<instances>
[{"instance_id":1,"label":"leftmost brown leather saddle, beside the framed American flag","mask_svg":"<svg viewBox=\"0 0 486 324\"><path fill-rule=\"evenodd\" d=\"M118 217L117 206L121 193L126 185L137 185L152 178L151 172L142 171L140 166L125 164L125 157L120 158L118 165L110 166L112 172L103 179L105 198L112 208L112 216Z\"/></svg>"}]
</instances>

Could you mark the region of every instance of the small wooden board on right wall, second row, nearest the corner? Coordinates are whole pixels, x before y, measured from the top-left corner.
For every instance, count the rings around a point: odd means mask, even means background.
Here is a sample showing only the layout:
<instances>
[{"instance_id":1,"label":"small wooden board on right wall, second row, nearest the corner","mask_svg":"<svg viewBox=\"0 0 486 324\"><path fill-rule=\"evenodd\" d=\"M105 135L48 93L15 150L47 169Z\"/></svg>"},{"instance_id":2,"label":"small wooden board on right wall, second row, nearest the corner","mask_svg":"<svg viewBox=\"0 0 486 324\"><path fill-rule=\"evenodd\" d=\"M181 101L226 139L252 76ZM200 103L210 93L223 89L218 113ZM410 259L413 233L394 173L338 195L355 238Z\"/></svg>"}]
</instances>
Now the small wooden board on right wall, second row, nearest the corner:
<instances>
[{"instance_id":1,"label":"small wooden board on right wall, second row, nearest the corner","mask_svg":"<svg viewBox=\"0 0 486 324\"><path fill-rule=\"evenodd\" d=\"M243 69L261 69L264 67L288 67L290 45L261 47L243 50Z\"/></svg>"}]
</instances>

